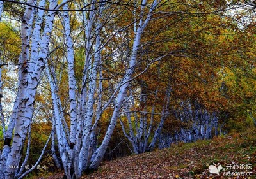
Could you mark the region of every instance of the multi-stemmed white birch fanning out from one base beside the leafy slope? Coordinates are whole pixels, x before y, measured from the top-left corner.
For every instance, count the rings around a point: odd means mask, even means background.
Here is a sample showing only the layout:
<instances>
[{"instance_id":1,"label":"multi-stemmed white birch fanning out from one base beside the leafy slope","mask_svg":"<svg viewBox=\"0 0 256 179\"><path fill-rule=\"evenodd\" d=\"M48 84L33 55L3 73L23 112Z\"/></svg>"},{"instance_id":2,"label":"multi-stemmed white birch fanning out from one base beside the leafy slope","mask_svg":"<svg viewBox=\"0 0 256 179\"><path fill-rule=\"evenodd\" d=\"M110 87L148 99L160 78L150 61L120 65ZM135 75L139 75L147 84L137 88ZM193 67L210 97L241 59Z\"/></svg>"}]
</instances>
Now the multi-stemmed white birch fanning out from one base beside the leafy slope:
<instances>
[{"instance_id":1,"label":"multi-stemmed white birch fanning out from one base beside the leafy slope","mask_svg":"<svg viewBox=\"0 0 256 179\"><path fill-rule=\"evenodd\" d=\"M140 16L137 19L138 24L136 24L131 57L127 63L128 67L125 69L124 75L118 78L120 81L115 86L115 89L111 90L112 94L110 97L105 96L104 101L102 88L102 83L104 82L104 77L102 76L102 49L116 35L116 30L112 32L109 38L102 39L101 36L106 37L104 27L110 21L109 19L115 17L114 11L116 10L116 6L105 3L104 1L82 2L81 4L81 6L88 6L90 10L82 12L83 23L85 24L85 50L83 79L81 85L78 85L81 86L80 91L76 90L77 82L74 76L74 45L72 42L72 33L70 32L70 15L67 11L63 12L63 31L65 32L65 48L67 48L70 99L70 129L67 129L67 133L63 130L65 129L65 118L61 113L63 107L58 96L56 71L51 68L51 63L47 64L46 70L51 84L58 148L67 178L80 178L83 171L98 168L115 129L124 97L126 96L129 83L132 80L132 75L136 68L141 35L147 27L150 18L152 18L158 4L159 1L152 1L149 5L147 1L141 2ZM147 8L147 6L150 8ZM63 10L68 10L68 6L63 6ZM119 31L121 32L123 30L120 29ZM122 44L120 47L122 47ZM77 103L75 96L78 96ZM97 125L102 119L102 113L112 104L115 104L115 106L113 106L113 114L108 130L104 134L104 140L96 149L95 135Z\"/></svg>"}]
</instances>

